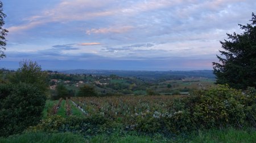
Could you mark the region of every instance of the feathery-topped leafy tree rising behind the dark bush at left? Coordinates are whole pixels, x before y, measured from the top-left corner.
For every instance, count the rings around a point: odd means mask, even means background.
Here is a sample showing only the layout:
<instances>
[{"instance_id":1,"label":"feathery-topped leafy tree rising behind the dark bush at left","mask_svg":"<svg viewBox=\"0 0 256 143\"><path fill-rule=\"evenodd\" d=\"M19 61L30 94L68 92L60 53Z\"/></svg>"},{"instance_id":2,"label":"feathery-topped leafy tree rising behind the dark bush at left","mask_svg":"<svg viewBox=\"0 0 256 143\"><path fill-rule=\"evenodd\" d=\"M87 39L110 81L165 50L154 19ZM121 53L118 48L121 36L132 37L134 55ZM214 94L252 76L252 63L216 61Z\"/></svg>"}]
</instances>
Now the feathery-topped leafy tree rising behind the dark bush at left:
<instances>
[{"instance_id":1,"label":"feathery-topped leafy tree rising behind the dark bush at left","mask_svg":"<svg viewBox=\"0 0 256 143\"><path fill-rule=\"evenodd\" d=\"M23 60L20 62L20 68L11 78L12 83L27 83L33 84L42 92L46 92L48 88L47 73L42 71L42 68L36 62L31 60Z\"/></svg>"}]
</instances>

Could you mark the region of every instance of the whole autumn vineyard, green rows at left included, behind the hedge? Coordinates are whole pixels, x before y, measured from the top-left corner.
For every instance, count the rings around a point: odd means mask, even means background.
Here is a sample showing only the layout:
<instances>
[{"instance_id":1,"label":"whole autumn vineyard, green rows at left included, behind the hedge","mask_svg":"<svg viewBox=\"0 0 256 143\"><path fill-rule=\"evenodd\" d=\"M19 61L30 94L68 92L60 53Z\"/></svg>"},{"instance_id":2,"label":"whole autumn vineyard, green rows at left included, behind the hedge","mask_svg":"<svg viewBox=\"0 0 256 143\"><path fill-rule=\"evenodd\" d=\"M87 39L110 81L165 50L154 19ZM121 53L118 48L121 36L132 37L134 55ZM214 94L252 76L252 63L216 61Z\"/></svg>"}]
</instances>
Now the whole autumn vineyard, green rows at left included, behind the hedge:
<instances>
[{"instance_id":1,"label":"whole autumn vineyard, green rows at left included, behind the hedge","mask_svg":"<svg viewBox=\"0 0 256 143\"><path fill-rule=\"evenodd\" d=\"M120 96L120 97L72 97L48 101L46 115L92 116L102 115L112 120L129 119L134 116L171 114L174 99L184 96ZM159 116L159 117L160 117Z\"/></svg>"}]
</instances>

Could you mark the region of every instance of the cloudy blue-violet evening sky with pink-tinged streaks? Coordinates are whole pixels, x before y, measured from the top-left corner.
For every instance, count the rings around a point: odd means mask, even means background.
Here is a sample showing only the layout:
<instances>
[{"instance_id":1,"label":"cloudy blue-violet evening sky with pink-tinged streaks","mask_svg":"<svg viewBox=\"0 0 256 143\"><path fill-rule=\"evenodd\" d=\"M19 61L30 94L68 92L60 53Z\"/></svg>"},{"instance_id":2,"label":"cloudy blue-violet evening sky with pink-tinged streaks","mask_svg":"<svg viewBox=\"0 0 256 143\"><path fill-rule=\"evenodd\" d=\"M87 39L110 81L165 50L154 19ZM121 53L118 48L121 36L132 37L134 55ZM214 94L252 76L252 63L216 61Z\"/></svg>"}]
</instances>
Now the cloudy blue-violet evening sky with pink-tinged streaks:
<instances>
[{"instance_id":1,"label":"cloudy blue-violet evening sky with pink-tinged streaks","mask_svg":"<svg viewBox=\"0 0 256 143\"><path fill-rule=\"evenodd\" d=\"M2 0L0 67L212 70L226 33L242 33L255 0Z\"/></svg>"}]
</instances>

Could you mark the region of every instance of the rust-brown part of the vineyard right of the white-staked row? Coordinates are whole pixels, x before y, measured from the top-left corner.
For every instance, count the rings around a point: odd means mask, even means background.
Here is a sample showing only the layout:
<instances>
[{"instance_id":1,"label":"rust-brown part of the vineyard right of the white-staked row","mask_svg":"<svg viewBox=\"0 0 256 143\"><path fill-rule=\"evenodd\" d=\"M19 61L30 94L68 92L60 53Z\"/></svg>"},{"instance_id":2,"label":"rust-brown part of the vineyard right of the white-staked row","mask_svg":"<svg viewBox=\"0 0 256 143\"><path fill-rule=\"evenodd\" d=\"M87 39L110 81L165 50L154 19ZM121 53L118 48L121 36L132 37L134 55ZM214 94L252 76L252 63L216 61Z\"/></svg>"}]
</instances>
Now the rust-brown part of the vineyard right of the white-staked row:
<instances>
[{"instance_id":1,"label":"rust-brown part of the vineyard right of the white-staked row","mask_svg":"<svg viewBox=\"0 0 256 143\"><path fill-rule=\"evenodd\" d=\"M184 96L120 96L72 97L88 115L100 114L113 120L126 120L138 115L161 114L168 116L172 101Z\"/></svg>"}]
</instances>

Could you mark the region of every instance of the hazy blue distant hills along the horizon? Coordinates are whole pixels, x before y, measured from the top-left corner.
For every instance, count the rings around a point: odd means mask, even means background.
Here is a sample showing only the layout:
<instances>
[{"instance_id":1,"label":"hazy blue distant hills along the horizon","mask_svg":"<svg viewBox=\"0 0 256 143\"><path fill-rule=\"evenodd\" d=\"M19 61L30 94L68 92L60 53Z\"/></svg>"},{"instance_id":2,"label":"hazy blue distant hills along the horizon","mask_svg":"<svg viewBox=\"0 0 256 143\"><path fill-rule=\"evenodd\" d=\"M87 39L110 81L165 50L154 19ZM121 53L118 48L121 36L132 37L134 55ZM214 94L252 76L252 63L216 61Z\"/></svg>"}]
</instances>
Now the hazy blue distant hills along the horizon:
<instances>
[{"instance_id":1,"label":"hazy blue distant hills along the horizon","mask_svg":"<svg viewBox=\"0 0 256 143\"><path fill-rule=\"evenodd\" d=\"M212 70L198 71L118 71L118 70L65 70L59 71L68 74L92 74L92 75L118 75L123 77L138 77L142 79L158 80L164 78L184 78L184 77L207 77L215 79Z\"/></svg>"}]
</instances>

